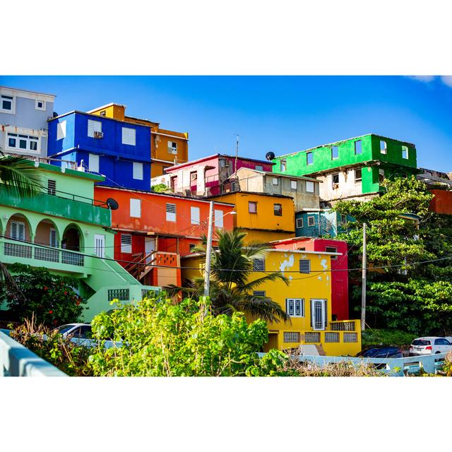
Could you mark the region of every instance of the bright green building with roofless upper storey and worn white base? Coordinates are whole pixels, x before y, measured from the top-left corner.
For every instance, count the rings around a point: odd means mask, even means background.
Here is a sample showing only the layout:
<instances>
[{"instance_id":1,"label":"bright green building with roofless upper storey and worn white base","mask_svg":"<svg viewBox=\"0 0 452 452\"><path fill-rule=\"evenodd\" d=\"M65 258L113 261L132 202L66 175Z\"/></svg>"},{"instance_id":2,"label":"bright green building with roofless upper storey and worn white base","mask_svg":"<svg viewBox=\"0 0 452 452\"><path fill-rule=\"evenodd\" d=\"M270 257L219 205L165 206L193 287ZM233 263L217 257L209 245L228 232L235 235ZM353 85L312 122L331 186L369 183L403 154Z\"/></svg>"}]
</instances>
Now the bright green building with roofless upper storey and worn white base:
<instances>
[{"instance_id":1,"label":"bright green building with roofless upper storey and worn white base","mask_svg":"<svg viewBox=\"0 0 452 452\"><path fill-rule=\"evenodd\" d=\"M321 180L320 197L367 200L379 193L383 179L417 174L416 147L369 133L275 157L273 172Z\"/></svg>"}]
</instances>

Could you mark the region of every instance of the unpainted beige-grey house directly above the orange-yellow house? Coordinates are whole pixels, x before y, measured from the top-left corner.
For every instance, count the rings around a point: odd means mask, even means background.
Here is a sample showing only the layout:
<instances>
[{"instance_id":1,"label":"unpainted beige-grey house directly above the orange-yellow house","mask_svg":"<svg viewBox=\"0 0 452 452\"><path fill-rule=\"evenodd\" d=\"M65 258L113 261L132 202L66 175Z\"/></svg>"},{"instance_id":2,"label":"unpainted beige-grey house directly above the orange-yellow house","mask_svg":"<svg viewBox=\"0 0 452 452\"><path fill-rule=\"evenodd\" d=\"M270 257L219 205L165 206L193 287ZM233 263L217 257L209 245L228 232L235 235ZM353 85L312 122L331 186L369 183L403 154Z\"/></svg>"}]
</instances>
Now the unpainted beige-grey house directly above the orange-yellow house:
<instances>
[{"instance_id":1,"label":"unpainted beige-grey house directly above the orange-yellow house","mask_svg":"<svg viewBox=\"0 0 452 452\"><path fill-rule=\"evenodd\" d=\"M258 169L239 168L229 179L226 191L252 191L291 196L295 210L320 207L321 182L311 177L287 176Z\"/></svg>"}]
</instances>

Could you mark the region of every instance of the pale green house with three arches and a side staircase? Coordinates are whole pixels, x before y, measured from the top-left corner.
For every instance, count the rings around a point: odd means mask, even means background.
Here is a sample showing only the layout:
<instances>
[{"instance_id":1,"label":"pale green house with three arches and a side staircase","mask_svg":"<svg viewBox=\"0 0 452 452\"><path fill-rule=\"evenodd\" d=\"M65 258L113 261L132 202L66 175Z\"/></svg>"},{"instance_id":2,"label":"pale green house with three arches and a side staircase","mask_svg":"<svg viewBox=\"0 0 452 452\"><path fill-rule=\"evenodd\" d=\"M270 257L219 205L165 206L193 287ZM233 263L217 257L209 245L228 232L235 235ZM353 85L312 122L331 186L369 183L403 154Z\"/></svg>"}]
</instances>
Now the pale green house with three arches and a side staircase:
<instances>
[{"instance_id":1,"label":"pale green house with three arches and a side staircase","mask_svg":"<svg viewBox=\"0 0 452 452\"><path fill-rule=\"evenodd\" d=\"M42 171L39 196L11 195L0 184L0 260L77 278L76 290L88 299L85 321L112 309L112 299L132 302L158 290L141 285L113 260L111 210L93 199L94 184L104 177L78 171L73 162L35 166Z\"/></svg>"}]
</instances>

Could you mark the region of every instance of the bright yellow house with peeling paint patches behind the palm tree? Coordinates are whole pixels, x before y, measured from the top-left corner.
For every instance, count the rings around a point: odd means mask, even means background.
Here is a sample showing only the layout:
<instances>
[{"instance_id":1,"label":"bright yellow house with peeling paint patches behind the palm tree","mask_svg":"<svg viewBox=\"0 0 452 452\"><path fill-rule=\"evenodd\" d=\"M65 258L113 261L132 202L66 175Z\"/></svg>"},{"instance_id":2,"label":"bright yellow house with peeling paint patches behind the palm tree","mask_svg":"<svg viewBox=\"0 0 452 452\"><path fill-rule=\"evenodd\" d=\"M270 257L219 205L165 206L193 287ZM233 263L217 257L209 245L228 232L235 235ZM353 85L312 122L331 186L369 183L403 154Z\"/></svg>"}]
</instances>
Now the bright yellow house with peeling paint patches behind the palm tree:
<instances>
[{"instance_id":1,"label":"bright yellow house with peeling paint patches behind the palm tree","mask_svg":"<svg viewBox=\"0 0 452 452\"><path fill-rule=\"evenodd\" d=\"M338 253L270 249L266 258L254 261L256 273L250 282L274 271L289 279L289 285L268 282L254 291L278 302L291 318L291 322L268 324L264 351L299 348L305 355L354 356L361 350L359 320L333 321L331 317L330 270L335 255ZM199 256L183 258L182 280L199 276L201 272L195 268L202 270L201 264Z\"/></svg>"}]
</instances>

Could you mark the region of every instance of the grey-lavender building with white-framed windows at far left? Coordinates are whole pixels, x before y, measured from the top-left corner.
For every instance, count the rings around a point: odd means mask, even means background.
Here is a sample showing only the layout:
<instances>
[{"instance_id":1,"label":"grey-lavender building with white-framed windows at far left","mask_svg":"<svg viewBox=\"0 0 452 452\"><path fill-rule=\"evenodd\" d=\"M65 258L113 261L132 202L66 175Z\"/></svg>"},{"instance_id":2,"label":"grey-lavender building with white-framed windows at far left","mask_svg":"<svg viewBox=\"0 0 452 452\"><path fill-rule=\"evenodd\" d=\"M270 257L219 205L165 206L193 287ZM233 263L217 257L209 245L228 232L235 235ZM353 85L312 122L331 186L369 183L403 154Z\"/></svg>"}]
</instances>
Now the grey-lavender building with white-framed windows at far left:
<instances>
[{"instance_id":1,"label":"grey-lavender building with white-framed windows at far left","mask_svg":"<svg viewBox=\"0 0 452 452\"><path fill-rule=\"evenodd\" d=\"M47 119L55 96L0 86L0 147L8 154L47 157Z\"/></svg>"}]
</instances>

